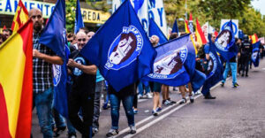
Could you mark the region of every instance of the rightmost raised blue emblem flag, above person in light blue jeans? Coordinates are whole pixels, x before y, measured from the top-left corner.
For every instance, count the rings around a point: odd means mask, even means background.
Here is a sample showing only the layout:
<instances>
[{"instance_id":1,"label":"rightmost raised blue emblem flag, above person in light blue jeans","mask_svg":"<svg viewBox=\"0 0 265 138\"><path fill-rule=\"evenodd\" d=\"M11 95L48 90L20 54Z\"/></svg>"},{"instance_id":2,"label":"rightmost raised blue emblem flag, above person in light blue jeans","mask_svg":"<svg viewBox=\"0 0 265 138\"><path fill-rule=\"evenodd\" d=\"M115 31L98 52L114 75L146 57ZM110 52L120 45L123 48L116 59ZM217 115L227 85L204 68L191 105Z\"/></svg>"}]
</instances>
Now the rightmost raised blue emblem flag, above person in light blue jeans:
<instances>
[{"instance_id":1,"label":"rightmost raised blue emblem flag, above person in light blue jeans","mask_svg":"<svg viewBox=\"0 0 265 138\"><path fill-rule=\"evenodd\" d=\"M217 36L215 46L216 51L220 53L225 61L229 61L237 55L238 50L237 45L235 44L231 20Z\"/></svg>"}]
</instances>

